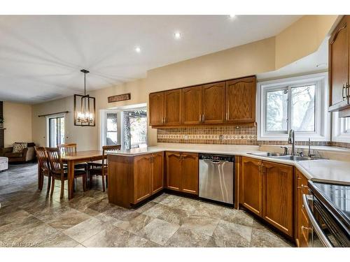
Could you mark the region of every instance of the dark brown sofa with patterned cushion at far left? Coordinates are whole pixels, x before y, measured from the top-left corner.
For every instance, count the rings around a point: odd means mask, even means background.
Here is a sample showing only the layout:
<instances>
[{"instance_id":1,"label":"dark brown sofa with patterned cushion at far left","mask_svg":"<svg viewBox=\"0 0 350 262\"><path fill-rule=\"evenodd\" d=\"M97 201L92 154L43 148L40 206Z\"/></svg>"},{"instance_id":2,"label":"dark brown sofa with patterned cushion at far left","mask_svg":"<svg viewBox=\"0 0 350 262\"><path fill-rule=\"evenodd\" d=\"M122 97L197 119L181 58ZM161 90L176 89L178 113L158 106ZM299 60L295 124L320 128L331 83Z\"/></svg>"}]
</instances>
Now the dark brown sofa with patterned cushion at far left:
<instances>
[{"instance_id":1,"label":"dark brown sofa with patterned cushion at far left","mask_svg":"<svg viewBox=\"0 0 350 262\"><path fill-rule=\"evenodd\" d=\"M8 163L29 162L35 160L35 143L14 143L12 147L3 149L3 157L8 158ZM15 150L14 150L15 149ZM15 152L14 152L15 151Z\"/></svg>"}]
</instances>

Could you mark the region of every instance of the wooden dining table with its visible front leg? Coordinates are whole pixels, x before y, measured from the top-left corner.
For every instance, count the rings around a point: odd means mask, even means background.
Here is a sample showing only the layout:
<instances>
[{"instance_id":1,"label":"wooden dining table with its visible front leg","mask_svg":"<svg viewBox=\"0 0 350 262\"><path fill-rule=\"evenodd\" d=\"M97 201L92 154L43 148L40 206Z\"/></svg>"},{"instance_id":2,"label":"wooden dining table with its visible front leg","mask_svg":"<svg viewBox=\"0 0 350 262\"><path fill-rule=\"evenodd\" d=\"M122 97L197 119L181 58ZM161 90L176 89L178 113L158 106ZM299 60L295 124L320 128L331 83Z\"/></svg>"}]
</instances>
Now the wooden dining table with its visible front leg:
<instances>
[{"instance_id":1,"label":"wooden dining table with its visible front leg","mask_svg":"<svg viewBox=\"0 0 350 262\"><path fill-rule=\"evenodd\" d=\"M78 151L75 153L62 154L62 162L67 164L68 167L68 198L71 199L74 196L74 165L76 163L85 163L90 161L102 160L104 157L101 150L86 150Z\"/></svg>"}]
</instances>

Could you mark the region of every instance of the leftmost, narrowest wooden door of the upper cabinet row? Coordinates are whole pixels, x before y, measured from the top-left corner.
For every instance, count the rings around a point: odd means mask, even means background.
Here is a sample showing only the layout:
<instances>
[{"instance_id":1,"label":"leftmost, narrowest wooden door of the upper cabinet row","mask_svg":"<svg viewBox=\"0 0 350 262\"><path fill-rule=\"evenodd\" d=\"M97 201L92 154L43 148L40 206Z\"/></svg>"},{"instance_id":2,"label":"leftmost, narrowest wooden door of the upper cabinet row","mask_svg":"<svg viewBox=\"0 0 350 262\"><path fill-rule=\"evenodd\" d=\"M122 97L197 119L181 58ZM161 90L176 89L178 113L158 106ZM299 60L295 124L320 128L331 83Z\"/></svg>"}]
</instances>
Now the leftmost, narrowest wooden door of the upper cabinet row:
<instances>
[{"instance_id":1,"label":"leftmost, narrowest wooden door of the upper cabinet row","mask_svg":"<svg viewBox=\"0 0 350 262\"><path fill-rule=\"evenodd\" d=\"M164 124L164 92L153 93L149 96L151 126Z\"/></svg>"}]
</instances>

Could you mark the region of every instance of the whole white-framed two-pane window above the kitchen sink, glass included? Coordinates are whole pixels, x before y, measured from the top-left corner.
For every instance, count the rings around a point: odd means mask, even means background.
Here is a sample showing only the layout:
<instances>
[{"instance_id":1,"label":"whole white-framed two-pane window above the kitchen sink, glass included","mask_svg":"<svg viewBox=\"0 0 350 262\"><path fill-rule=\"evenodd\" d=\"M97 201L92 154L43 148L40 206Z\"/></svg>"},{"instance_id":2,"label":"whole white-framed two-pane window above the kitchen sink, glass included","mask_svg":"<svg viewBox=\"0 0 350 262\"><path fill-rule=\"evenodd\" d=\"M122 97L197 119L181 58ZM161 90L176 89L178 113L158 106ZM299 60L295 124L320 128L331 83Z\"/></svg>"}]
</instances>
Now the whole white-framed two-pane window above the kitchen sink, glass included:
<instances>
[{"instance_id":1,"label":"whole white-framed two-pane window above the kitchen sink, glass included","mask_svg":"<svg viewBox=\"0 0 350 262\"><path fill-rule=\"evenodd\" d=\"M258 83L258 140L329 140L327 73Z\"/></svg>"}]
</instances>

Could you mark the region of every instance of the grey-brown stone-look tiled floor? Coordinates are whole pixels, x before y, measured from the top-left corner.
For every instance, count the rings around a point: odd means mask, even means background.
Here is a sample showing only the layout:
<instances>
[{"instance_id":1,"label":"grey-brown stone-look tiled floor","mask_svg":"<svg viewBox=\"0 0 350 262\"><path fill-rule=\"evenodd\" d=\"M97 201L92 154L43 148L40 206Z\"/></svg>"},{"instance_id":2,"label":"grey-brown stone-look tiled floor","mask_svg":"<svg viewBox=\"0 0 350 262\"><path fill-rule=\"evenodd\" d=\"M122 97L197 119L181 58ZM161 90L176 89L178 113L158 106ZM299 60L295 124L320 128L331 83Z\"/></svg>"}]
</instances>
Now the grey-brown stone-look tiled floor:
<instances>
[{"instance_id":1,"label":"grey-brown stone-look tiled floor","mask_svg":"<svg viewBox=\"0 0 350 262\"><path fill-rule=\"evenodd\" d=\"M241 210L169 194L126 210L94 181L68 201L59 182L52 199L37 191L35 164L0 173L0 247L290 247Z\"/></svg>"}]
</instances>

